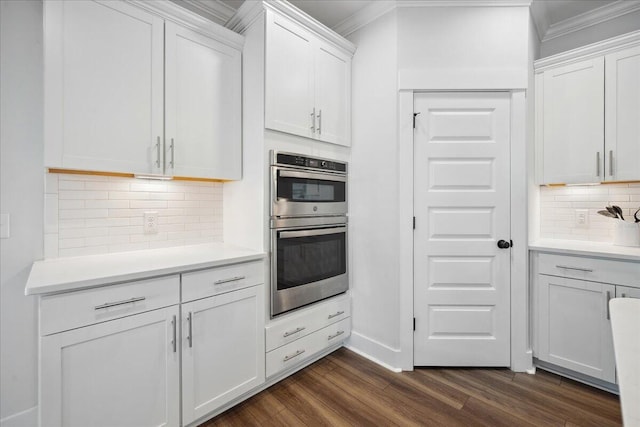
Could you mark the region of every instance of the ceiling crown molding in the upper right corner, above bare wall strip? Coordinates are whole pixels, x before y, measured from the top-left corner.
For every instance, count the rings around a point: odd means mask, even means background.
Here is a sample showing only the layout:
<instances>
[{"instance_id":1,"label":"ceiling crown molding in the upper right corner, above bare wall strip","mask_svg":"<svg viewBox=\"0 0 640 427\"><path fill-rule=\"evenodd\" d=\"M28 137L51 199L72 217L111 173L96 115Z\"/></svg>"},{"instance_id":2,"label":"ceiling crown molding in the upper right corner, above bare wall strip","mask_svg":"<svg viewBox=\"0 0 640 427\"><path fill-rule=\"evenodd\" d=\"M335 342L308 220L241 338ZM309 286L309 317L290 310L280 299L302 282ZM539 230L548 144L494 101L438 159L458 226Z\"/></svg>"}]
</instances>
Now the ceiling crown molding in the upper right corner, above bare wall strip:
<instances>
[{"instance_id":1,"label":"ceiling crown molding in the upper right corner, above bare wall strip","mask_svg":"<svg viewBox=\"0 0 640 427\"><path fill-rule=\"evenodd\" d=\"M550 25L543 33L542 41L546 42L556 37L583 30L637 10L640 10L640 1L618 0L609 5L581 13L580 15Z\"/></svg>"}]
</instances>

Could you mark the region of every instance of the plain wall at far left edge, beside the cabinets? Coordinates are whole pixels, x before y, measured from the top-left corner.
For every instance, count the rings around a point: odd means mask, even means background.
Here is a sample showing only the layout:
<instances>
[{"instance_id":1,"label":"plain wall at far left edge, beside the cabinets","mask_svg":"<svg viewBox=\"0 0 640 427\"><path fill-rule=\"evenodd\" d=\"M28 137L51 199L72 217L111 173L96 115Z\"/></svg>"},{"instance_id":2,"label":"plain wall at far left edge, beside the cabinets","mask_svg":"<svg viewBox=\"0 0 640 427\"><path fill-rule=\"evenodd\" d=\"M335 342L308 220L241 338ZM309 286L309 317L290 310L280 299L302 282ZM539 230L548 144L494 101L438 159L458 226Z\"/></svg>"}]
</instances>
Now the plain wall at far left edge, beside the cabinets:
<instances>
[{"instance_id":1,"label":"plain wall at far left edge, beside the cabinets","mask_svg":"<svg viewBox=\"0 0 640 427\"><path fill-rule=\"evenodd\" d=\"M33 426L37 316L24 285L43 251L42 3L2 1L0 20L0 209L11 214L0 241L0 425Z\"/></svg>"}]
</instances>

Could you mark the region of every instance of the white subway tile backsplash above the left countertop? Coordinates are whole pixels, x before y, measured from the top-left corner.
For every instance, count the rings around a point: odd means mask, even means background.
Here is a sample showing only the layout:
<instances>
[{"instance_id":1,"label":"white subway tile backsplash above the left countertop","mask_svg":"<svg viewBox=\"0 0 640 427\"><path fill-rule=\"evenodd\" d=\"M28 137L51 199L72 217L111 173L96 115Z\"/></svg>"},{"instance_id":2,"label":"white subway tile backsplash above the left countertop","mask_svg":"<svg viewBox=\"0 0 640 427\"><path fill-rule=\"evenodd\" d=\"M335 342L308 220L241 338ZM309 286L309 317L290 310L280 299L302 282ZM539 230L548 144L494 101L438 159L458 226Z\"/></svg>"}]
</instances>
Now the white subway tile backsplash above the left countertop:
<instances>
[{"instance_id":1,"label":"white subway tile backsplash above the left countertop","mask_svg":"<svg viewBox=\"0 0 640 427\"><path fill-rule=\"evenodd\" d=\"M47 173L44 222L45 258L221 242L222 184Z\"/></svg>"}]
</instances>

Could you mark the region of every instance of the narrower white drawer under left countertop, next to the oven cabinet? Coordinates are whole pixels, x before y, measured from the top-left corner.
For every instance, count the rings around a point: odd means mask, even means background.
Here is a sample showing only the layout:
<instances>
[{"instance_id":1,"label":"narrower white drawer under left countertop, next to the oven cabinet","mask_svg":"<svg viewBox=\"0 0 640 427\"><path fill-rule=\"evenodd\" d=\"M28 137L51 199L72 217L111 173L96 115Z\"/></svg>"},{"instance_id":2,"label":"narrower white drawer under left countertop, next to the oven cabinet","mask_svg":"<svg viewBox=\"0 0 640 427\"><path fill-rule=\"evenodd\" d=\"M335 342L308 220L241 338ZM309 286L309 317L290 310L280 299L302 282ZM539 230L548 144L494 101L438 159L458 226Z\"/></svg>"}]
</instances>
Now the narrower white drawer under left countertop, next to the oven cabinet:
<instances>
[{"instance_id":1,"label":"narrower white drawer under left countertop, next to the oven cabinet","mask_svg":"<svg viewBox=\"0 0 640 427\"><path fill-rule=\"evenodd\" d=\"M182 302L264 283L262 261L209 268L182 275Z\"/></svg>"}]
</instances>

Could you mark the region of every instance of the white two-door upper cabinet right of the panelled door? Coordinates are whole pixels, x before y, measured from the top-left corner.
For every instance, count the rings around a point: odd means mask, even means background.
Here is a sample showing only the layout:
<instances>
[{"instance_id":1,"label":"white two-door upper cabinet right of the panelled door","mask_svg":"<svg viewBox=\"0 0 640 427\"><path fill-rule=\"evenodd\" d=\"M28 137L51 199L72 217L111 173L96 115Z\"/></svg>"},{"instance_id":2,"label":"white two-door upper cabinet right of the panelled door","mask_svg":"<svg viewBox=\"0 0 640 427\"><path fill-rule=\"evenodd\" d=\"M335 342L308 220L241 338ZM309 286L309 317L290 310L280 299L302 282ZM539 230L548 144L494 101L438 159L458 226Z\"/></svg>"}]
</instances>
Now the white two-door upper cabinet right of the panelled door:
<instances>
[{"instance_id":1,"label":"white two-door upper cabinet right of the panelled door","mask_svg":"<svg viewBox=\"0 0 640 427\"><path fill-rule=\"evenodd\" d=\"M640 180L640 32L536 61L540 184Z\"/></svg>"}]
</instances>

